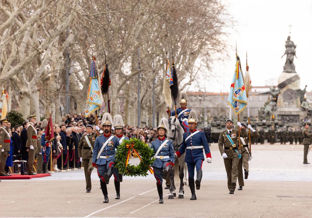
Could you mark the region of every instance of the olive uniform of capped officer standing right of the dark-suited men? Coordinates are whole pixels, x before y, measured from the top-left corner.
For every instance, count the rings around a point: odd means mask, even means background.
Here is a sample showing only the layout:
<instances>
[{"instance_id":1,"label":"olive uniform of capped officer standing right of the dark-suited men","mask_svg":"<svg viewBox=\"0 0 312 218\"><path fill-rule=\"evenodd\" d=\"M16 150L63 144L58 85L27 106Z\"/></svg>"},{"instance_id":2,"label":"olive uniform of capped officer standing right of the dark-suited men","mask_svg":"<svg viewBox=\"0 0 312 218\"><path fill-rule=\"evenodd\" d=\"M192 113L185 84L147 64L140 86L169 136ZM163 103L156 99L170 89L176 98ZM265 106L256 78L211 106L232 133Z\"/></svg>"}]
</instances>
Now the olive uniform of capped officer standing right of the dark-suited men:
<instances>
[{"instance_id":1,"label":"olive uniform of capped officer standing right of the dark-suited men","mask_svg":"<svg viewBox=\"0 0 312 218\"><path fill-rule=\"evenodd\" d=\"M34 149L30 149L30 146L33 146ZM27 142L26 147L28 148L28 174L33 174L33 165L35 161L36 149L37 149L37 130L35 126L29 122L27 127Z\"/></svg>"}]
</instances>

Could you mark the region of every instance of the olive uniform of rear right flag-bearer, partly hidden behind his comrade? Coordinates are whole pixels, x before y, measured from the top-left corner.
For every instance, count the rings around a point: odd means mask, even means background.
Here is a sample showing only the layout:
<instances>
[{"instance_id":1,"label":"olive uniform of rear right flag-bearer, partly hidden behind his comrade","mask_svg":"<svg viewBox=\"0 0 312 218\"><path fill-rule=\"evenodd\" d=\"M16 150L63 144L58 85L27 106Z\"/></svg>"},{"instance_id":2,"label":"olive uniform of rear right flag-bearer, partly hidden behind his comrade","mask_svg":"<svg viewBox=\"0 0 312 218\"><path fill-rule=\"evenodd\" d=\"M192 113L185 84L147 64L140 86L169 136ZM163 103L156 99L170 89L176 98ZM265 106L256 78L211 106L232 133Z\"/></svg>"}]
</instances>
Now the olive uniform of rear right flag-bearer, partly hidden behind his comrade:
<instances>
[{"instance_id":1,"label":"olive uniform of rear right flag-bearer, partly hidden behind his comrade","mask_svg":"<svg viewBox=\"0 0 312 218\"><path fill-rule=\"evenodd\" d=\"M257 138L259 137L259 133L256 132L250 132L250 138ZM244 178L243 178L243 170L242 167L244 168L244 171L249 172L249 147L248 147L248 143L249 143L249 139L248 136L247 137L242 137L245 144L246 145L242 145L241 144L241 159L238 162L238 183L239 186L244 186Z\"/></svg>"}]
</instances>

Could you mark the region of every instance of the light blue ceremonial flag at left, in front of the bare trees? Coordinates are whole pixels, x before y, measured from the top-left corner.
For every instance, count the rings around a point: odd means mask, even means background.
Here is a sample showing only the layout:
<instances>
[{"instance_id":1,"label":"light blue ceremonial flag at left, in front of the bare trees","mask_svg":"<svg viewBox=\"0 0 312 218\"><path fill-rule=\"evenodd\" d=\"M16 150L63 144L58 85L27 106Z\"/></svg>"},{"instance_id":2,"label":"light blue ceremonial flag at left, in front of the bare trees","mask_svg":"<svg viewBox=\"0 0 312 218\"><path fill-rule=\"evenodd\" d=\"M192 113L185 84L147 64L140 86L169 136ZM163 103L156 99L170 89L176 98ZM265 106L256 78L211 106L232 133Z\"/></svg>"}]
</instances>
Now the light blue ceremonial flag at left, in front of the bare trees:
<instances>
[{"instance_id":1,"label":"light blue ceremonial flag at left, in front of the bare trees","mask_svg":"<svg viewBox=\"0 0 312 218\"><path fill-rule=\"evenodd\" d=\"M94 58L90 67L90 82L87 102L85 105L85 117L88 117L91 113L101 108L102 104L99 87L97 63Z\"/></svg>"}]
</instances>

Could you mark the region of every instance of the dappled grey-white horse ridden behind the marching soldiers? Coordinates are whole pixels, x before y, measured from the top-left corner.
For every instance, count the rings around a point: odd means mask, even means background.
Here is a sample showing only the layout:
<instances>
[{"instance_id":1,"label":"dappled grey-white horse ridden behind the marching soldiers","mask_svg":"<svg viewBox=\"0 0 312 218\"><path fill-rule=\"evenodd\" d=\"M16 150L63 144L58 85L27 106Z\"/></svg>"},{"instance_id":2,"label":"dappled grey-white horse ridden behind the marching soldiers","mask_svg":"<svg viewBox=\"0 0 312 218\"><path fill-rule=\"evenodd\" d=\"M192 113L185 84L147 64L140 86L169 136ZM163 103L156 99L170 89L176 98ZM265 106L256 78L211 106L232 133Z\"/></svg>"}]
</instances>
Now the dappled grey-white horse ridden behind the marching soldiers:
<instances>
[{"instance_id":1,"label":"dappled grey-white horse ridden behind the marching soldiers","mask_svg":"<svg viewBox=\"0 0 312 218\"><path fill-rule=\"evenodd\" d=\"M175 116L171 116L168 119L168 132L167 132L167 138L170 140L173 140L173 149L174 152L177 152L182 145L183 142L183 133L184 130L182 126L180 125L179 120ZM179 187L179 197L184 197L184 168L186 168L185 164L185 153L181 155L178 159L175 159L174 167L169 169L168 175L170 176L170 189L169 189L169 196L168 199L173 199L173 197L176 197L175 192L175 185L174 185L174 179L178 181L180 179L180 187ZM186 182L185 182L186 185Z\"/></svg>"}]
</instances>

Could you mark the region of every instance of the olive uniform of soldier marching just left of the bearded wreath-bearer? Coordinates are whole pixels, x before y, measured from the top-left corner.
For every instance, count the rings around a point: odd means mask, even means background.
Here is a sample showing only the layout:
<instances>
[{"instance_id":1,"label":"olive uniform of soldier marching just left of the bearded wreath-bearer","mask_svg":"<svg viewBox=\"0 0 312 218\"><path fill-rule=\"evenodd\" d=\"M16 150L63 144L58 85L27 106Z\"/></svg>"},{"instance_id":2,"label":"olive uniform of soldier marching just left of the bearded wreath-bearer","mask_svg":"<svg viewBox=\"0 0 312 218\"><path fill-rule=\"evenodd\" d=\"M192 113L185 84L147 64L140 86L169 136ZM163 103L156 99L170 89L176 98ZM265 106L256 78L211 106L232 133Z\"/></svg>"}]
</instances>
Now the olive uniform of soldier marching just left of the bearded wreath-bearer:
<instances>
[{"instance_id":1,"label":"olive uniform of soldier marching just left of the bearded wreath-bearer","mask_svg":"<svg viewBox=\"0 0 312 218\"><path fill-rule=\"evenodd\" d=\"M88 137L90 141L91 148L89 147L85 136ZM82 157L82 163L85 170L85 183L86 183L86 190L91 190L91 176L88 175L88 170L92 172L92 151L96 139L96 133L91 133L90 135L86 134L83 135L79 141L78 146L78 157Z\"/></svg>"}]
</instances>

